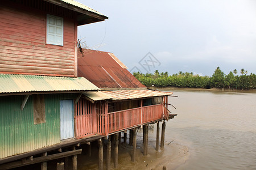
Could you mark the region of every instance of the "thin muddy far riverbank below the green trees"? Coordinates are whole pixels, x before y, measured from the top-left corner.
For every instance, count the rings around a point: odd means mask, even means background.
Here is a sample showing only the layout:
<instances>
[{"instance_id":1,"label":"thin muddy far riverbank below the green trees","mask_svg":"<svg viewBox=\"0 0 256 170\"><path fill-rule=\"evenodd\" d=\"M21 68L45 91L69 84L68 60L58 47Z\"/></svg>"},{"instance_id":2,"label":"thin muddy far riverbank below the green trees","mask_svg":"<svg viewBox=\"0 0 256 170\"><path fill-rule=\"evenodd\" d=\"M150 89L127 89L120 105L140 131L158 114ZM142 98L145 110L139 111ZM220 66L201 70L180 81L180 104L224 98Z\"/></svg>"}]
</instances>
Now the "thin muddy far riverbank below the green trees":
<instances>
[{"instance_id":1,"label":"thin muddy far riverbank below the green trees","mask_svg":"<svg viewBox=\"0 0 256 170\"><path fill-rule=\"evenodd\" d=\"M178 88L178 87L148 87L152 90L188 90L188 91L218 91L218 92L242 92L242 93L253 93L256 94L256 89L251 90L230 90L230 89L221 89L221 88Z\"/></svg>"}]
</instances>

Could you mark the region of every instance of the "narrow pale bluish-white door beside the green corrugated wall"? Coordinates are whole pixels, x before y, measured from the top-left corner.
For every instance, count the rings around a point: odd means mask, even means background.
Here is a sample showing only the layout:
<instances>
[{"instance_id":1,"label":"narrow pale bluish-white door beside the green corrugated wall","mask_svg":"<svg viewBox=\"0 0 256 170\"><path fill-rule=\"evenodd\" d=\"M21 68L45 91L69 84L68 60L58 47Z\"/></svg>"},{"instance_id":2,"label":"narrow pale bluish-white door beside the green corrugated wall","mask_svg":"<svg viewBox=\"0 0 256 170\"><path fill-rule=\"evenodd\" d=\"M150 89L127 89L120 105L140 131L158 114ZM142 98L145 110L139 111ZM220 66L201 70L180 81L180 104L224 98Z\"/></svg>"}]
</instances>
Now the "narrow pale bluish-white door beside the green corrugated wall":
<instances>
[{"instance_id":1,"label":"narrow pale bluish-white door beside the green corrugated wall","mask_svg":"<svg viewBox=\"0 0 256 170\"><path fill-rule=\"evenodd\" d=\"M60 100L60 139L74 137L73 100Z\"/></svg>"}]
</instances>

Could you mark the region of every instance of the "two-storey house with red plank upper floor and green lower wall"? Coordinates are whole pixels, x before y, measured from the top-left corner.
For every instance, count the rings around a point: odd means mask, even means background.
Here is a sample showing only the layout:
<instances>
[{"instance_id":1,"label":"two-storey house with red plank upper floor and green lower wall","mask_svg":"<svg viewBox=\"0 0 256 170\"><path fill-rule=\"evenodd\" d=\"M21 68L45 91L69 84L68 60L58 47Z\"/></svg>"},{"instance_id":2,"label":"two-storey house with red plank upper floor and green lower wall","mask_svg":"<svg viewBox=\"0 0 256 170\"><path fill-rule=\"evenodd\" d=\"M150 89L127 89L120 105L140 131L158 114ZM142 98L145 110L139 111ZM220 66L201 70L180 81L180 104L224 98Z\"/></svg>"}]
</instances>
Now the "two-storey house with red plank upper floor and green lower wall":
<instances>
[{"instance_id":1,"label":"two-storey house with red plank upper floor and green lower wall","mask_svg":"<svg viewBox=\"0 0 256 170\"><path fill-rule=\"evenodd\" d=\"M75 105L99 90L77 78L77 26L105 19L73 0L0 3L0 169L47 160L32 156L76 136Z\"/></svg>"}]
</instances>

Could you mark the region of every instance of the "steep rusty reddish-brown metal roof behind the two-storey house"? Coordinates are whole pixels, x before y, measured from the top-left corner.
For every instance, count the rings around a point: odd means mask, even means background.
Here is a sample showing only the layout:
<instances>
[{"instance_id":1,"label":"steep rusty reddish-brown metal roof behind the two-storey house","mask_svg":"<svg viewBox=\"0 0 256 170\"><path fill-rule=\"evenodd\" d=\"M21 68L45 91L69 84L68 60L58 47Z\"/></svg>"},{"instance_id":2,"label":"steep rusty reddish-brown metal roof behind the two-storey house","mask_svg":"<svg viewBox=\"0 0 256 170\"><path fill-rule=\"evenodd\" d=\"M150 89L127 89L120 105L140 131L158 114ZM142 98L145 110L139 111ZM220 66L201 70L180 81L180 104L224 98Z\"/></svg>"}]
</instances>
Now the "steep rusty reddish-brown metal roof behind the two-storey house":
<instances>
[{"instance_id":1,"label":"steep rusty reddish-brown metal roof behind the two-storey house","mask_svg":"<svg viewBox=\"0 0 256 170\"><path fill-rule=\"evenodd\" d=\"M84 57L79 52L77 63L78 76L99 88L145 87L113 53L84 49Z\"/></svg>"}]
</instances>

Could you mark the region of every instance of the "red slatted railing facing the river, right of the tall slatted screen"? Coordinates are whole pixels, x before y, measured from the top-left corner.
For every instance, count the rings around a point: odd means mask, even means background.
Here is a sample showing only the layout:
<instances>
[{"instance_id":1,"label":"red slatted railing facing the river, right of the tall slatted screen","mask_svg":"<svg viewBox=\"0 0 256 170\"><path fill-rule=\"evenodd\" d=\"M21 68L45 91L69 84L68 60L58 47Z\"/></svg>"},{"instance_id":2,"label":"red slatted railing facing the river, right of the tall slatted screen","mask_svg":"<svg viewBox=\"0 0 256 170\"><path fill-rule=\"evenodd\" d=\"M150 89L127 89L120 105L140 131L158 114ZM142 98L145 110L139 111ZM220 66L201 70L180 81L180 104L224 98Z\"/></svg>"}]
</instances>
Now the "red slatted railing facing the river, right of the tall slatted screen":
<instances>
[{"instance_id":1,"label":"red slatted railing facing the river, right of the tall slatted screen","mask_svg":"<svg viewBox=\"0 0 256 170\"><path fill-rule=\"evenodd\" d=\"M163 104L108 113L108 133L163 118Z\"/></svg>"}]
</instances>

